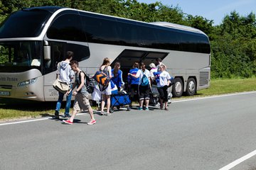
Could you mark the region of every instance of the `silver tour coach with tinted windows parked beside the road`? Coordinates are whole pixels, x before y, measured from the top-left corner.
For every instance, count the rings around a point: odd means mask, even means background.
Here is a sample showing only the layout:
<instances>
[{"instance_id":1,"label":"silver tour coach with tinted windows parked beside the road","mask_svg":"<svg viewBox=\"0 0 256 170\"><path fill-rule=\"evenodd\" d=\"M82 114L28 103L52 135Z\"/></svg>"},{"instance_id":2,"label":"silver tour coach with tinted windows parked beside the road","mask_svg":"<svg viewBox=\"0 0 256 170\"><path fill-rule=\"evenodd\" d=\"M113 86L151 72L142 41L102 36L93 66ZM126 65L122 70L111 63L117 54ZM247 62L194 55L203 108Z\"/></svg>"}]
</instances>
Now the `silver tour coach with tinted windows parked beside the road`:
<instances>
[{"instance_id":1,"label":"silver tour coach with tinted windows parked beside the road","mask_svg":"<svg viewBox=\"0 0 256 170\"><path fill-rule=\"evenodd\" d=\"M56 101L52 84L68 50L90 75L105 57L120 62L124 80L134 62L161 58L176 97L210 85L210 42L201 30L43 6L11 13L0 25L0 97Z\"/></svg>"}]
</instances>

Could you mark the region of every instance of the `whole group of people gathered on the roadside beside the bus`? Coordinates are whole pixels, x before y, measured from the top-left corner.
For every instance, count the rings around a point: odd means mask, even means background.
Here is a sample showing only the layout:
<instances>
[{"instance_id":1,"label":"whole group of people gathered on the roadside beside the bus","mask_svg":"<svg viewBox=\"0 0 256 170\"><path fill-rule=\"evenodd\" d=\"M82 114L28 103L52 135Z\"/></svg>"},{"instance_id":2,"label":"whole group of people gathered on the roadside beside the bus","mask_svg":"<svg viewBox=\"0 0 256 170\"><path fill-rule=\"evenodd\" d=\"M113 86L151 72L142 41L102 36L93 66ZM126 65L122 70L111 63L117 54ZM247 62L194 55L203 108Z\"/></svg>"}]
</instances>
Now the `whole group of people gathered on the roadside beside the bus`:
<instances>
[{"instance_id":1,"label":"whole group of people gathered on the roadside beside the bus","mask_svg":"<svg viewBox=\"0 0 256 170\"><path fill-rule=\"evenodd\" d=\"M66 58L64 61L58 63L57 67L57 78L60 81L67 82L70 84L70 90L67 91L66 94L62 94L59 92L58 101L55 108L55 118L59 118L60 106L63 101L64 95L67 97L65 113L64 117L70 117L68 120L63 120L63 123L73 124L73 120L75 115L79 111L87 110L90 113L90 122L87 125L94 125L96 120L93 115L92 108L89 102L89 93L85 87L85 72L79 68L79 64L77 61L73 59L73 52L68 51L66 53ZM134 94L138 94L139 96L139 111L143 110L143 106L145 106L145 111L149 111L149 99L151 93L151 84L156 82L157 89L159 91L159 99L160 99L160 109L165 109L168 111L167 101L168 101L168 87L170 84L170 74L166 72L166 66L161 62L161 59L156 60L157 65L151 63L149 67L151 67L150 71L146 69L146 65L138 62L134 62L132 69L129 70L128 73L128 89L130 92L130 97L133 99ZM116 62L114 64L114 68L110 66L111 62L109 58L105 58L100 66L100 71L107 74L107 77L110 77L112 83L117 86L118 91L121 91L124 86L124 81L122 79L122 71L120 70L120 63ZM75 81L73 83L73 79ZM111 84L107 84L105 88L102 88L100 85L100 89L104 89L101 91L102 100L100 107L101 115L111 115L110 113L110 96L112 94L112 86ZM73 89L76 90L73 91ZM71 105L72 95L75 96L73 112L70 116L69 109ZM104 108L107 107L107 112L105 113Z\"/></svg>"}]
</instances>

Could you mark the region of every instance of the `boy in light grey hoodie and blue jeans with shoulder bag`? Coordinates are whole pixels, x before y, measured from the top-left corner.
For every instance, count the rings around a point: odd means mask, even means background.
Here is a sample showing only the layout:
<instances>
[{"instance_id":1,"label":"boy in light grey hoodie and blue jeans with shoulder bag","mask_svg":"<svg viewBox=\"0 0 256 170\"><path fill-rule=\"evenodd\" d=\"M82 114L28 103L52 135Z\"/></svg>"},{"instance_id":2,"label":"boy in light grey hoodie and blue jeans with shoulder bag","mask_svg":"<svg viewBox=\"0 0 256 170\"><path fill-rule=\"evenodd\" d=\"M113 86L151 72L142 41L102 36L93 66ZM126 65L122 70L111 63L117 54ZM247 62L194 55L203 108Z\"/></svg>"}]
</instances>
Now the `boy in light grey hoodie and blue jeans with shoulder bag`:
<instances>
[{"instance_id":1,"label":"boy in light grey hoodie and blue jeans with shoulder bag","mask_svg":"<svg viewBox=\"0 0 256 170\"><path fill-rule=\"evenodd\" d=\"M57 73L56 73L56 78L59 78L60 81L63 81L63 82L66 82L67 84L69 84L70 89L72 89L72 81L73 81L73 77L74 77L74 72L70 67L70 61L73 59L73 55L74 54L72 51L66 52L65 60L58 63ZM61 103L63 101L64 95L67 96L64 117L70 117L69 111L70 111L70 106L71 106L72 91L70 92L70 94L68 94L68 93L63 94L60 92L58 92L58 94L59 94L58 101L56 103L56 108L55 108L55 113L54 113L55 118L56 119L59 118L60 107L61 107Z\"/></svg>"}]
</instances>

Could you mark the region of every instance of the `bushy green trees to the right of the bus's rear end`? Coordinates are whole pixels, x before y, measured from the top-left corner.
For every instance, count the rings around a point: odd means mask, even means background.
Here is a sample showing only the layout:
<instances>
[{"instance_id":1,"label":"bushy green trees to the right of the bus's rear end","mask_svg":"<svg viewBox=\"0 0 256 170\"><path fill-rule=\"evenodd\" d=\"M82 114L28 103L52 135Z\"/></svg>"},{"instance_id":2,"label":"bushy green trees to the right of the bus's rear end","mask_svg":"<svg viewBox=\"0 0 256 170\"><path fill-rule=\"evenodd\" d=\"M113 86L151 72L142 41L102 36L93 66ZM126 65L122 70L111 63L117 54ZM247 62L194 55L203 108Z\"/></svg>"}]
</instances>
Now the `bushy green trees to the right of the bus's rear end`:
<instances>
[{"instance_id":1,"label":"bushy green trees to the right of the bus's rear end","mask_svg":"<svg viewBox=\"0 0 256 170\"><path fill-rule=\"evenodd\" d=\"M212 77L252 77L256 73L256 18L235 11L215 28L211 40Z\"/></svg>"}]
</instances>

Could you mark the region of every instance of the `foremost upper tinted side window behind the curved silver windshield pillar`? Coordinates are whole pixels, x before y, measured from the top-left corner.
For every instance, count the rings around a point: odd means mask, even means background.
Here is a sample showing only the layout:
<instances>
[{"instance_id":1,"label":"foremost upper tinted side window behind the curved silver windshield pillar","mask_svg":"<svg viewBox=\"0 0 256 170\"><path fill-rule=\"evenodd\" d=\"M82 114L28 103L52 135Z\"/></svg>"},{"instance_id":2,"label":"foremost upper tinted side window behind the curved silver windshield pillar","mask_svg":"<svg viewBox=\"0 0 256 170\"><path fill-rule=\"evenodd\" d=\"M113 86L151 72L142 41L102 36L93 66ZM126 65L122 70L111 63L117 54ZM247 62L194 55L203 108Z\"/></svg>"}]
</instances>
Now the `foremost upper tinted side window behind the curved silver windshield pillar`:
<instances>
[{"instance_id":1,"label":"foremost upper tinted side window behind the curved silver windshield pillar","mask_svg":"<svg viewBox=\"0 0 256 170\"><path fill-rule=\"evenodd\" d=\"M58 40L86 42L80 16L77 14L63 14L56 18L48 29L47 36Z\"/></svg>"}]
</instances>

